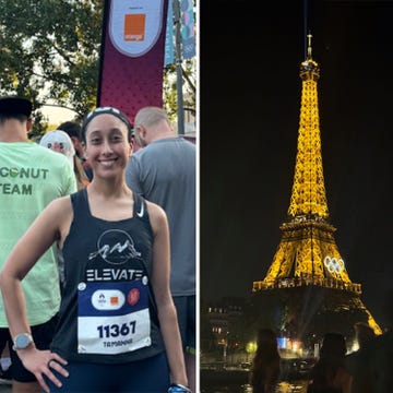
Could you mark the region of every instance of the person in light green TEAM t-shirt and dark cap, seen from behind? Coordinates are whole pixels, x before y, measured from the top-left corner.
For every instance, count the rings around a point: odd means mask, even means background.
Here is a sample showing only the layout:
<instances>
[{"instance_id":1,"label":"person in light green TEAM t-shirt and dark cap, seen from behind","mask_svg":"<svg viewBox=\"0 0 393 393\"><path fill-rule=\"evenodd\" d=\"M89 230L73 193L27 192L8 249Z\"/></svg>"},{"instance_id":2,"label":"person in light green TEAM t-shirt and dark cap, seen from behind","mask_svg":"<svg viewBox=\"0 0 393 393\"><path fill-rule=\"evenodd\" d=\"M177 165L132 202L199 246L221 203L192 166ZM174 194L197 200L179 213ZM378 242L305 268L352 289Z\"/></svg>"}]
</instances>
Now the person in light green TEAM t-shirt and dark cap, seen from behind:
<instances>
[{"instance_id":1,"label":"person in light green TEAM t-shirt and dark cap, seen from behind","mask_svg":"<svg viewBox=\"0 0 393 393\"><path fill-rule=\"evenodd\" d=\"M0 267L49 202L76 191L75 177L67 157L31 142L27 132L32 126L32 103L28 99L16 96L0 98ZM56 250L49 246L29 273L24 272L24 331L28 335L20 335L22 331L13 330L10 335L0 299L0 347L10 343L11 378L16 393L39 391L35 376L23 366L17 354L31 340L40 349L49 348L57 322L59 276ZM26 252L33 255L32 250Z\"/></svg>"}]
</instances>

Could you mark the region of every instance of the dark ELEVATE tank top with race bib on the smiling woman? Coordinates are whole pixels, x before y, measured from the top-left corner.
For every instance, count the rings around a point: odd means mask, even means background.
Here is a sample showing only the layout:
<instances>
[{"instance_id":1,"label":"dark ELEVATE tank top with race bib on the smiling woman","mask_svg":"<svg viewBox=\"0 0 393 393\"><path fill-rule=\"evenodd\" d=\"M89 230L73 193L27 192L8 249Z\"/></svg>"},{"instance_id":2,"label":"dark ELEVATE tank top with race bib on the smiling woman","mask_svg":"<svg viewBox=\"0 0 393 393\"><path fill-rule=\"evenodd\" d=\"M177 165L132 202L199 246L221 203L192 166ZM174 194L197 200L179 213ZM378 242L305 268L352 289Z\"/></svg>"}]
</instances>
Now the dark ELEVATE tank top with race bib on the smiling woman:
<instances>
[{"instance_id":1,"label":"dark ELEVATE tank top with race bib on the smiling woman","mask_svg":"<svg viewBox=\"0 0 393 393\"><path fill-rule=\"evenodd\" d=\"M67 360L128 362L164 350L150 284L153 231L145 200L133 195L133 216L116 222L92 216L86 189L71 195L63 297L51 344Z\"/></svg>"}]
</instances>

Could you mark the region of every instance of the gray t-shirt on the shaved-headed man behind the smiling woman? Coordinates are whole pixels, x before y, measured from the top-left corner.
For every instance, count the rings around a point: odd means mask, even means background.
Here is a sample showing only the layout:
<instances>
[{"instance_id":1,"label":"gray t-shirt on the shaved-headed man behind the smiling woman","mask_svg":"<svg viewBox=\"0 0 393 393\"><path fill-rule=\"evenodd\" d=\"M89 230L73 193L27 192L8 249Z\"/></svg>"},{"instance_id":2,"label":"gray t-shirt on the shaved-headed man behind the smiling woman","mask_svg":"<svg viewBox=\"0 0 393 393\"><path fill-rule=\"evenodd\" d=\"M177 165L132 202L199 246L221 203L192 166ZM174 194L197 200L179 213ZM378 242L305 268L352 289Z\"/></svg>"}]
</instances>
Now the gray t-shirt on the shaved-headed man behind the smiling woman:
<instances>
[{"instance_id":1,"label":"gray t-shirt on the shaved-headed man behind the smiling woman","mask_svg":"<svg viewBox=\"0 0 393 393\"><path fill-rule=\"evenodd\" d=\"M195 154L183 138L165 138L135 152L126 171L127 184L167 214L172 296L195 295Z\"/></svg>"}]
</instances>

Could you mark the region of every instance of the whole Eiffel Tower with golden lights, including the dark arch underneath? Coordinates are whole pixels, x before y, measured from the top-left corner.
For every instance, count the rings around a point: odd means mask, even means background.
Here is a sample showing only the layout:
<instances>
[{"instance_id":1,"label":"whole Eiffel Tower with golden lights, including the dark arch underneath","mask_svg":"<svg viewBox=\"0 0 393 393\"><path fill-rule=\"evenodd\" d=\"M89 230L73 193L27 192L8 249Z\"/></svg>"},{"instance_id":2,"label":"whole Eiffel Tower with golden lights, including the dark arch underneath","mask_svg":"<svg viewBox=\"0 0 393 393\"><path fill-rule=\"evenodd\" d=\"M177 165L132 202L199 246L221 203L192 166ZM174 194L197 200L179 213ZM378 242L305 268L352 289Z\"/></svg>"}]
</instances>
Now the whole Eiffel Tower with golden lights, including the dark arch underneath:
<instances>
[{"instance_id":1,"label":"whole Eiffel Tower with golden lights, including the dark arch underneath","mask_svg":"<svg viewBox=\"0 0 393 393\"><path fill-rule=\"evenodd\" d=\"M269 320L272 327L300 340L318 340L329 331L354 338L356 322L365 322L381 334L360 299L361 285L349 278L334 240L336 229L329 221L317 91L320 69L311 56L312 36L307 37L307 57L300 64L301 107L288 219L279 227L282 239L266 276L253 282L253 302L263 323Z\"/></svg>"}]
</instances>

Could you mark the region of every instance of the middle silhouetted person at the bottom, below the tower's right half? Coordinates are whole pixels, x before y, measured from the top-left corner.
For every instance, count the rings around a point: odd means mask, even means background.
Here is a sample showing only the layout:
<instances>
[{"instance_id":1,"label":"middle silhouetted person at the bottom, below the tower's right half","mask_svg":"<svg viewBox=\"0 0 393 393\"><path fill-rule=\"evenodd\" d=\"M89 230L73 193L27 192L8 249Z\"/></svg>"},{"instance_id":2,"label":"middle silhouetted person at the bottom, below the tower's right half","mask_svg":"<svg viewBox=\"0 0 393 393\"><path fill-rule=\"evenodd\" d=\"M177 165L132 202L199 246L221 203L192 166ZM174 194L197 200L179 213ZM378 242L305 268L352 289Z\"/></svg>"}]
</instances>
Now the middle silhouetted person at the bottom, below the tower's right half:
<instances>
[{"instance_id":1,"label":"middle silhouetted person at the bottom, below the tower's right half","mask_svg":"<svg viewBox=\"0 0 393 393\"><path fill-rule=\"evenodd\" d=\"M341 333L326 333L320 357L312 367L308 393L350 393L352 376L345 365L345 337Z\"/></svg>"}]
</instances>

